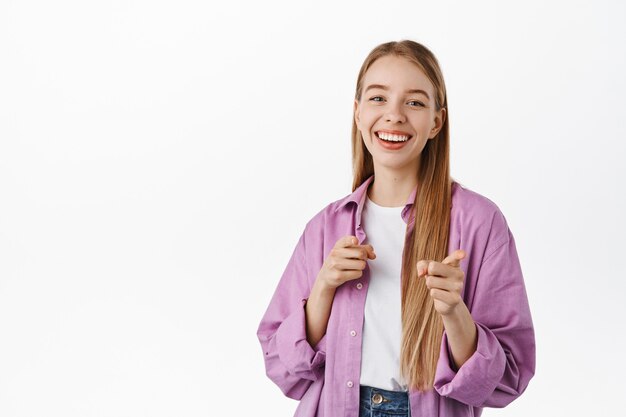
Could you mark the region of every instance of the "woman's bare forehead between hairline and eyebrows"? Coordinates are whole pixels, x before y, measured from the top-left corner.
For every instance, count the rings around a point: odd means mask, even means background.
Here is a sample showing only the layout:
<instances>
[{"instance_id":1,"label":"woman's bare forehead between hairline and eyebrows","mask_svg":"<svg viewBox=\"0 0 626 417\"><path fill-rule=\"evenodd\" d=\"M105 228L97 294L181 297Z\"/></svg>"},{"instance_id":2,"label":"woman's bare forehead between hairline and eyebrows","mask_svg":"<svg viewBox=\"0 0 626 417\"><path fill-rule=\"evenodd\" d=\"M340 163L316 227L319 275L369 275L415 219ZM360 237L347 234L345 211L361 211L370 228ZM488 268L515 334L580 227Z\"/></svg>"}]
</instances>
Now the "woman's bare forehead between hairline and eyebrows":
<instances>
[{"instance_id":1,"label":"woman's bare forehead between hairline and eyebrows","mask_svg":"<svg viewBox=\"0 0 626 417\"><path fill-rule=\"evenodd\" d=\"M363 91L370 84L383 84L393 89L425 90L433 97L433 85L424 72L407 58L387 55L378 58L363 76Z\"/></svg>"}]
</instances>

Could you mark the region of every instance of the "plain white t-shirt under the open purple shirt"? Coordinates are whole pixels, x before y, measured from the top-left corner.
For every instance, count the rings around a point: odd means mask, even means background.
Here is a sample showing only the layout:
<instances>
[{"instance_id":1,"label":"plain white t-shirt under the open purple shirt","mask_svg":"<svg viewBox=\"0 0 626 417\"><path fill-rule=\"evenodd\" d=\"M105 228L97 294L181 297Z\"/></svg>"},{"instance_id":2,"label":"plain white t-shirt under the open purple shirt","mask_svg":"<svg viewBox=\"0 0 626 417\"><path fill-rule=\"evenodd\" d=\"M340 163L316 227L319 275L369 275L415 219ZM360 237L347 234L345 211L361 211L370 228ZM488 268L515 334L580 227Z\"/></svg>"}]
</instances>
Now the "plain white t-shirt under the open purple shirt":
<instances>
[{"instance_id":1,"label":"plain white t-shirt under the open purple shirt","mask_svg":"<svg viewBox=\"0 0 626 417\"><path fill-rule=\"evenodd\" d=\"M365 299L360 383L391 391L407 390L400 376L400 273L406 233L403 208L382 207L367 196L362 213L366 234L363 244L373 246L376 259L367 261L370 282Z\"/></svg>"}]
</instances>

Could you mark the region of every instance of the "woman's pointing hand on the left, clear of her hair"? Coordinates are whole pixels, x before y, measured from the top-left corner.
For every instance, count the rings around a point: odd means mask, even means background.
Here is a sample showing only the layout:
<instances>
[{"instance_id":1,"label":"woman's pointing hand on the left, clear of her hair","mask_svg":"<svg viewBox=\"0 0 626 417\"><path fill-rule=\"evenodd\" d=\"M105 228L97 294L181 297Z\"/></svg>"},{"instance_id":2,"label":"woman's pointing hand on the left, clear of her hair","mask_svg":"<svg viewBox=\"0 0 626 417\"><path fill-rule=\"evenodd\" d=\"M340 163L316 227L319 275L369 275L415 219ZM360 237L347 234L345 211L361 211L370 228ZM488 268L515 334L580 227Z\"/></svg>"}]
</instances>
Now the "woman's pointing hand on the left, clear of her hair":
<instances>
[{"instance_id":1,"label":"woman's pointing hand on the left, clear of her hair","mask_svg":"<svg viewBox=\"0 0 626 417\"><path fill-rule=\"evenodd\" d=\"M322 265L317 279L335 289L346 281L358 279L368 259L375 259L372 245L359 245L355 236L344 236L335 243Z\"/></svg>"}]
</instances>

